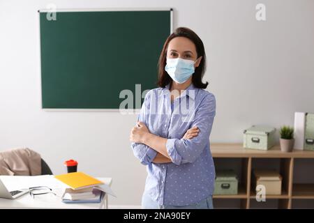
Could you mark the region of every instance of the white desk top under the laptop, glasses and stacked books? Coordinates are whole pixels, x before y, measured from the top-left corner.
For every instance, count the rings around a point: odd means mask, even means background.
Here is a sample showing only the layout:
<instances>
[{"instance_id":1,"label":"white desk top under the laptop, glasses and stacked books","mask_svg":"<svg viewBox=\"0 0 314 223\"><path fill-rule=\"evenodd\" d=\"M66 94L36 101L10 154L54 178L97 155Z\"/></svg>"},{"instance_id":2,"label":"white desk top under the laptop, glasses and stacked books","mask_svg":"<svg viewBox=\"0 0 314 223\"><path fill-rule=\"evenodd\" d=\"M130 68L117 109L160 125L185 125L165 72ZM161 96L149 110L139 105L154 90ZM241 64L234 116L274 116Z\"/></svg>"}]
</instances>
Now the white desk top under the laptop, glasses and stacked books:
<instances>
[{"instance_id":1,"label":"white desk top under the laptop, glasses and stacked books","mask_svg":"<svg viewBox=\"0 0 314 223\"><path fill-rule=\"evenodd\" d=\"M57 179L56 179L57 180ZM107 185L112 184L112 178L98 178ZM3 182L5 183L5 182ZM61 201L61 195L63 193L62 188L53 189L57 193L54 194L43 194L35 198L32 198L29 193L18 197L17 199L3 199L0 198L0 208L59 208L59 209L98 209L100 203L63 203ZM107 199L107 194L104 199Z\"/></svg>"}]
</instances>

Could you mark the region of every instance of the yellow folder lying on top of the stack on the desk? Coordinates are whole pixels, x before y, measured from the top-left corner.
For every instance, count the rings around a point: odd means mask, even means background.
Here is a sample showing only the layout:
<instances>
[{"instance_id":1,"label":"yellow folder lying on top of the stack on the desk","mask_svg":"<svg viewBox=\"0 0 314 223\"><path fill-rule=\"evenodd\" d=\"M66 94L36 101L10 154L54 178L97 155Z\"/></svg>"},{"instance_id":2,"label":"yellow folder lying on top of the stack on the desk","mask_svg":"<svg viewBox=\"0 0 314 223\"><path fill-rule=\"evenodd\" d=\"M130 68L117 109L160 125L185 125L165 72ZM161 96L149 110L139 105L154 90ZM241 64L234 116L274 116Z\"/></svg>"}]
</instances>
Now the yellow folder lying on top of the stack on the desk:
<instances>
[{"instance_id":1,"label":"yellow folder lying on top of the stack on the desk","mask_svg":"<svg viewBox=\"0 0 314 223\"><path fill-rule=\"evenodd\" d=\"M82 188L103 184L103 182L101 182L100 180L97 180L96 178L93 178L82 172L73 172L54 177L71 187L73 190L79 190Z\"/></svg>"}]
</instances>

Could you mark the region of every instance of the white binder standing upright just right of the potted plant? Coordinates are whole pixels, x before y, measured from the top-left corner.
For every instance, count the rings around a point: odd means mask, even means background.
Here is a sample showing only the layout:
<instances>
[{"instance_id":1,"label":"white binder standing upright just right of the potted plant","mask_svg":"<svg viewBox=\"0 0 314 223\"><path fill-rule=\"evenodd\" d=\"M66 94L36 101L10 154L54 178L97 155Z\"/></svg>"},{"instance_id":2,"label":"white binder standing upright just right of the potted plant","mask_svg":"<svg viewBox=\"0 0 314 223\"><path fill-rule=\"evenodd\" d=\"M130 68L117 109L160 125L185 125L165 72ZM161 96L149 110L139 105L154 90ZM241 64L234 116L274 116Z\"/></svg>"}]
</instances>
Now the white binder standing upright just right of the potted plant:
<instances>
[{"instance_id":1,"label":"white binder standing upright just right of the potted plant","mask_svg":"<svg viewBox=\"0 0 314 223\"><path fill-rule=\"evenodd\" d=\"M306 112L294 113L294 149L304 150Z\"/></svg>"}]
</instances>

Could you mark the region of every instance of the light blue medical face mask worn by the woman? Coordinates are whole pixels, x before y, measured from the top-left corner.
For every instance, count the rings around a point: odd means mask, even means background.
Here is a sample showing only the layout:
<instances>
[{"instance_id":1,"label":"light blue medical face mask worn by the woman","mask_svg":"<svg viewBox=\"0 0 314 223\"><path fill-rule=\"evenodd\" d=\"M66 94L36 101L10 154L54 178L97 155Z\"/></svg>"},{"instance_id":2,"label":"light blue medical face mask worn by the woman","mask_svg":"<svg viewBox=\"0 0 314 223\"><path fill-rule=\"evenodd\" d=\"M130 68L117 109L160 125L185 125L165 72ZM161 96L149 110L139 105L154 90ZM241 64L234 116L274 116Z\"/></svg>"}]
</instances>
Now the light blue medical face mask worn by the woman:
<instances>
[{"instance_id":1,"label":"light blue medical face mask worn by the woman","mask_svg":"<svg viewBox=\"0 0 314 223\"><path fill-rule=\"evenodd\" d=\"M196 61L190 61L181 58L167 58L165 71L167 71L168 75L170 75L174 82L182 84L186 82L191 75L193 75L195 71L195 62Z\"/></svg>"}]
</instances>

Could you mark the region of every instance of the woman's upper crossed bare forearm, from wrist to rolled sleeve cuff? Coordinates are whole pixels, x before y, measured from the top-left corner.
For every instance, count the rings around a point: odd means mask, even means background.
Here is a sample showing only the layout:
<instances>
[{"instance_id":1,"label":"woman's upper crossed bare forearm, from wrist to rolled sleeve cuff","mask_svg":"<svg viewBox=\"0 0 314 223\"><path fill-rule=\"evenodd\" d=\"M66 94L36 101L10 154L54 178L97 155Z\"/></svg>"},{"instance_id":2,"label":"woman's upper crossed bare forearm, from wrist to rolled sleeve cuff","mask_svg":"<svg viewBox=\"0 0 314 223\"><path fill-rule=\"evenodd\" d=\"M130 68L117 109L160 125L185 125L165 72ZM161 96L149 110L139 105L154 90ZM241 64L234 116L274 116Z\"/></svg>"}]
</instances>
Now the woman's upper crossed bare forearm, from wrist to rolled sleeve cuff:
<instances>
[{"instance_id":1,"label":"woman's upper crossed bare forearm, from wrist to rolled sleeve cuff","mask_svg":"<svg viewBox=\"0 0 314 223\"><path fill-rule=\"evenodd\" d=\"M144 135L143 144L154 148L155 151L170 159L166 148L167 139L147 132L147 134Z\"/></svg>"}]
</instances>

